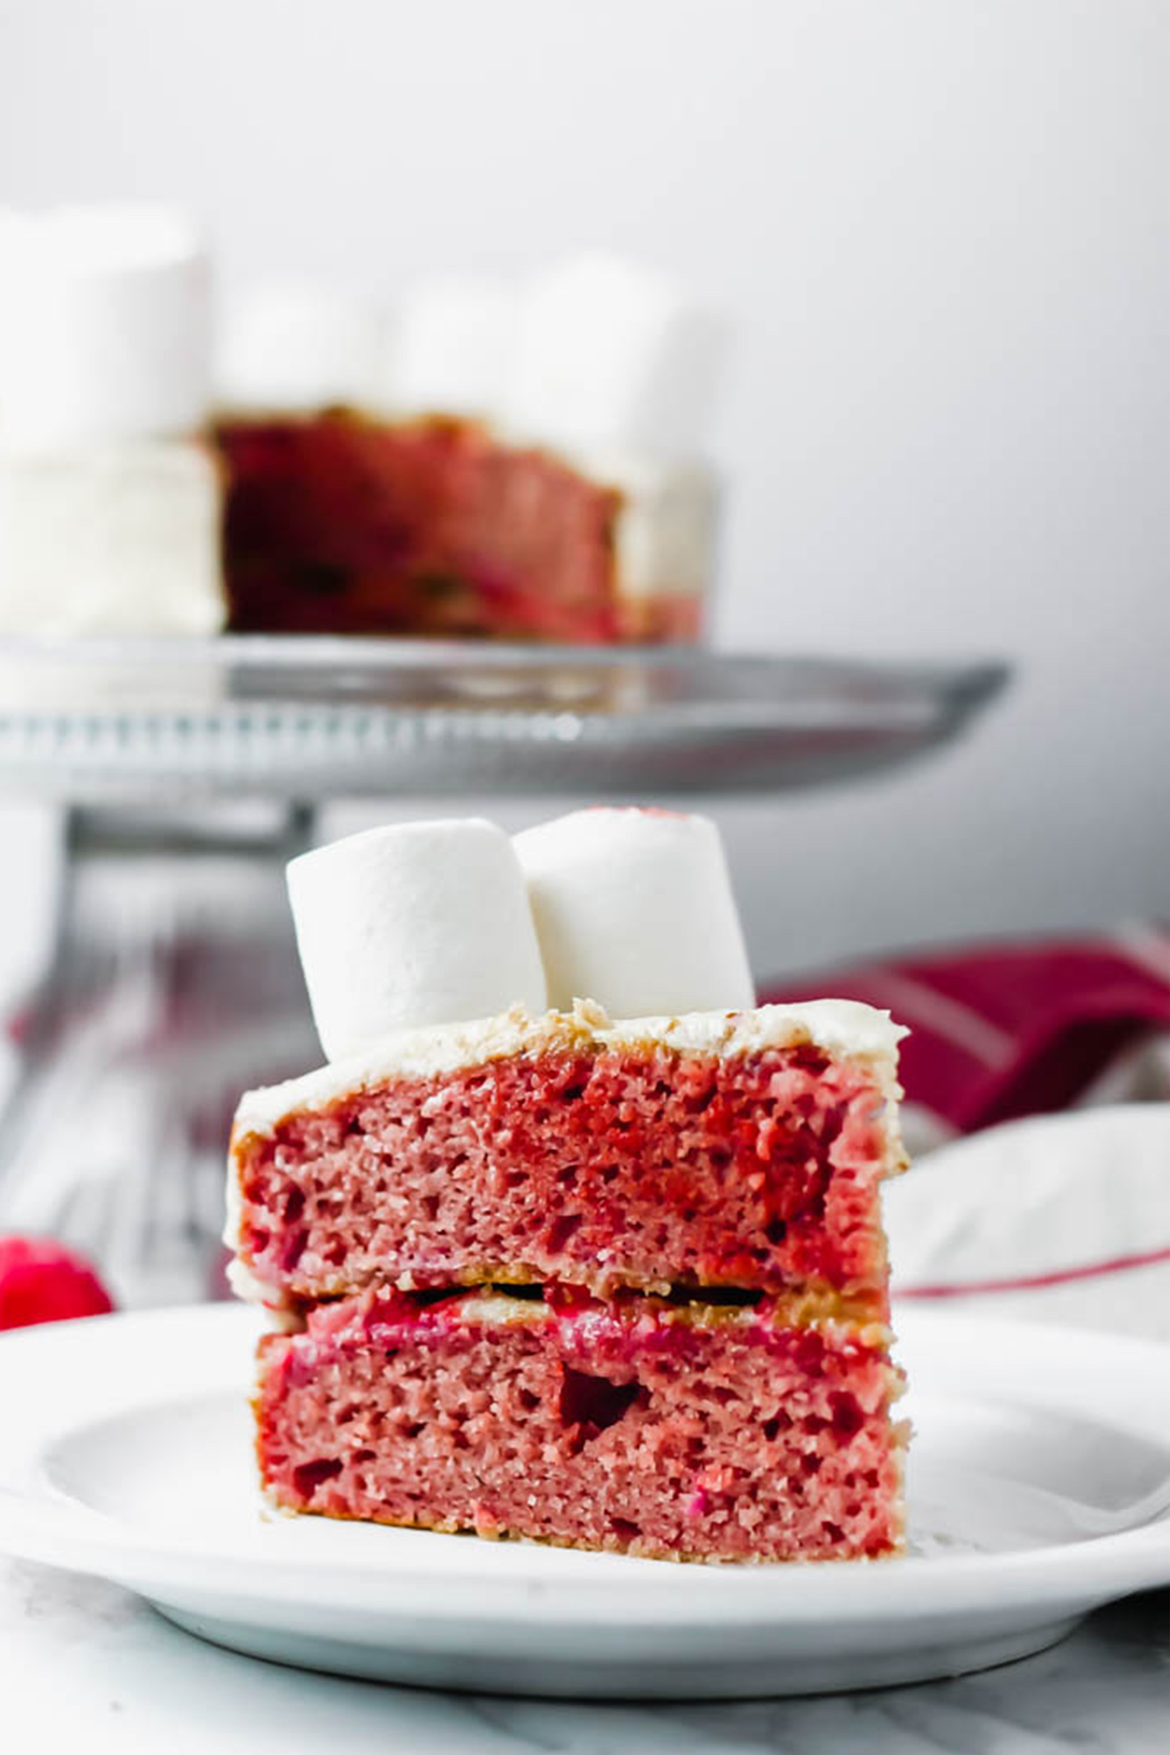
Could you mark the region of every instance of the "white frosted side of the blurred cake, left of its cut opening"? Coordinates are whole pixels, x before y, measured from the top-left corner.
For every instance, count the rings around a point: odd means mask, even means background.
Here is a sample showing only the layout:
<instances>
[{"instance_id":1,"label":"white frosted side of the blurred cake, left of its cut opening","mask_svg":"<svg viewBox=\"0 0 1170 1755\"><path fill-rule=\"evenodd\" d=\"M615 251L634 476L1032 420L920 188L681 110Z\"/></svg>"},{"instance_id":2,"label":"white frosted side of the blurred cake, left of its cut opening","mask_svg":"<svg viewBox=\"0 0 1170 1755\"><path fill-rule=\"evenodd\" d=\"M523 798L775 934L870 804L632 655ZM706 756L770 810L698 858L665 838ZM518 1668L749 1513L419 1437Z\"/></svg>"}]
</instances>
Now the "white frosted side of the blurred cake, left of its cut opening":
<instances>
[{"instance_id":1,"label":"white frosted side of the blurred cake, left of its cut opening","mask_svg":"<svg viewBox=\"0 0 1170 1755\"><path fill-rule=\"evenodd\" d=\"M0 628L216 634L219 523L219 470L198 441L0 455Z\"/></svg>"}]
</instances>

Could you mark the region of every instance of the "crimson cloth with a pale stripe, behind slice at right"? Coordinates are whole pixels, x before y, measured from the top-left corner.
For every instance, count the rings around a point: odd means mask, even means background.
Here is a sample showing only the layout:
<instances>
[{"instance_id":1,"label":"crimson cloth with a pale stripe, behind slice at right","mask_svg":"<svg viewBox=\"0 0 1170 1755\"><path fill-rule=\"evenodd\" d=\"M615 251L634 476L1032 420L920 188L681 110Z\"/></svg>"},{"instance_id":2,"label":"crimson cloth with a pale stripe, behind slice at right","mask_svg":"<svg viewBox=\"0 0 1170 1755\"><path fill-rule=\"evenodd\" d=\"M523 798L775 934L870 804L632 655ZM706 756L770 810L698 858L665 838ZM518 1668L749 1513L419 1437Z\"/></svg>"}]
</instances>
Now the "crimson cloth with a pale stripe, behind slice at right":
<instances>
[{"instance_id":1,"label":"crimson cloth with a pale stripe, behind slice at right","mask_svg":"<svg viewBox=\"0 0 1170 1755\"><path fill-rule=\"evenodd\" d=\"M770 983L763 999L860 999L910 1028L907 1099L960 1134L1075 1104L1170 1030L1170 932L991 944Z\"/></svg>"}]
</instances>

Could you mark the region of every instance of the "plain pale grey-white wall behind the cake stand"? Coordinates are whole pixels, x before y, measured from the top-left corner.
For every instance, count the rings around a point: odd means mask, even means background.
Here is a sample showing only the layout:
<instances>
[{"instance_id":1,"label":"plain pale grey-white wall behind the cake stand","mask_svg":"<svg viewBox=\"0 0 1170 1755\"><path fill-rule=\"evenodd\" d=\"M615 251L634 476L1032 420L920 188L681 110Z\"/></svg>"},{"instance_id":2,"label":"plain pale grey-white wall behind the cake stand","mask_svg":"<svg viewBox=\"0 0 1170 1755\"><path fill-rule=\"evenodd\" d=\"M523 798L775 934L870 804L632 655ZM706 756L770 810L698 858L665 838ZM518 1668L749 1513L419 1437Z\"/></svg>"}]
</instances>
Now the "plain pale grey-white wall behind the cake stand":
<instances>
[{"instance_id":1,"label":"plain pale grey-white wall behind the cake stand","mask_svg":"<svg viewBox=\"0 0 1170 1755\"><path fill-rule=\"evenodd\" d=\"M1158 0L0 0L0 202L225 279L602 244L726 305L730 646L1005 655L970 741L721 809L758 967L1168 909ZM531 813L509 813L519 821Z\"/></svg>"}]
</instances>

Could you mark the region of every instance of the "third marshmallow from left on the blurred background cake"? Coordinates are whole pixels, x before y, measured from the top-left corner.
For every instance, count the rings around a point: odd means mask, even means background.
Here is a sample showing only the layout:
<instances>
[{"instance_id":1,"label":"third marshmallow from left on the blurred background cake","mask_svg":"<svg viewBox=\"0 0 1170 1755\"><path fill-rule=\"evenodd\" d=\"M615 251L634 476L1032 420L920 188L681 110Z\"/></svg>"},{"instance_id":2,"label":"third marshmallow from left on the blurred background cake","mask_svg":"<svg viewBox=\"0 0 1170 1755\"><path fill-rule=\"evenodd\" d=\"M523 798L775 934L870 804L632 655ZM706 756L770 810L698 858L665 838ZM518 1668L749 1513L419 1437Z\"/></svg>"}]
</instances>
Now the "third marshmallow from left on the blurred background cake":
<instances>
[{"instance_id":1,"label":"third marshmallow from left on the blurred background cake","mask_svg":"<svg viewBox=\"0 0 1170 1755\"><path fill-rule=\"evenodd\" d=\"M393 414L493 418L516 349L517 293L505 281L435 277L398 302L372 395Z\"/></svg>"}]
</instances>

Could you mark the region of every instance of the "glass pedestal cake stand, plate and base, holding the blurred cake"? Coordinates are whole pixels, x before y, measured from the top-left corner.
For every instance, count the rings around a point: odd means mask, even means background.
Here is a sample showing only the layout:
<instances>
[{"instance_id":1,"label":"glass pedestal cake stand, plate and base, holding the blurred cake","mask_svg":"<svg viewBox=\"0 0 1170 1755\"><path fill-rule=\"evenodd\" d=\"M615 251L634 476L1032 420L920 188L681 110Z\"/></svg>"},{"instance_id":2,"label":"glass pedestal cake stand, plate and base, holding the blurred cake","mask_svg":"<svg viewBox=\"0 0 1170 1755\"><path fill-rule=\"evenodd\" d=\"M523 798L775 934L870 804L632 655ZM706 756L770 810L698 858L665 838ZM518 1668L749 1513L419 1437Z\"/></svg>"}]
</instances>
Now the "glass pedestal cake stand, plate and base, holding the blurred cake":
<instances>
[{"instance_id":1,"label":"glass pedestal cake stand, plate and base, holding the blurred cake","mask_svg":"<svg viewBox=\"0 0 1170 1755\"><path fill-rule=\"evenodd\" d=\"M0 1228L86 1248L126 1302L219 1288L235 1100L319 1060L284 863L326 800L819 786L940 748L1005 679L691 648L0 641L0 795L61 806L65 853L49 971L9 1020Z\"/></svg>"}]
</instances>

